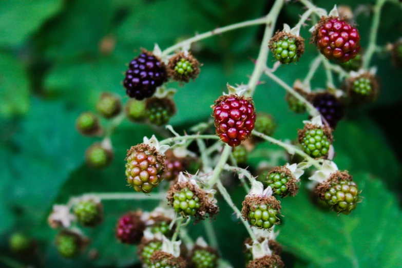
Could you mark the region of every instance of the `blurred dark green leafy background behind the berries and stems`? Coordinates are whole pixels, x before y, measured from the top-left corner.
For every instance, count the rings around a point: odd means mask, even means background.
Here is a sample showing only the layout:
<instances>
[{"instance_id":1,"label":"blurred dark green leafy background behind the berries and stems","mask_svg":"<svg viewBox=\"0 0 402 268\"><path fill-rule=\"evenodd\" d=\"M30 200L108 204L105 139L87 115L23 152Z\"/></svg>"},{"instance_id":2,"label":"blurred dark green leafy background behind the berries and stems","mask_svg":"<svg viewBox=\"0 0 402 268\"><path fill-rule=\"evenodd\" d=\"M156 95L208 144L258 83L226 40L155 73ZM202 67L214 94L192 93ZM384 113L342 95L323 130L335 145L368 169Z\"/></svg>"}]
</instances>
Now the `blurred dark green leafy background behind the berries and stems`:
<instances>
[{"instance_id":1,"label":"blurred dark green leafy background behind the berries and stems","mask_svg":"<svg viewBox=\"0 0 402 268\"><path fill-rule=\"evenodd\" d=\"M374 1L314 3L330 10L334 4L356 9ZM103 91L120 94L127 101L122 72L140 48L151 50L158 43L164 49L195 32L260 17L272 4L269 0L0 1L0 267L135 266L135 248L117 242L114 226L122 213L151 209L156 205L152 201L105 202L105 222L85 229L92 239L89 248L99 252L96 260L87 254L64 260L55 250L56 231L46 223L51 205L87 192L130 192L124 181L125 151L152 134L147 126L124 122L112 136L116 152L112 165L93 170L85 166L84 152L97 139L75 131L76 117L82 111L94 111ZM287 4L277 28L283 23L296 24L302 12L299 3ZM379 45L402 35L401 14L398 4L385 5ZM362 12L356 22L364 49L370 11ZM308 28L301 33L306 39ZM178 88L178 113L171 120L175 129L208 120L209 106L227 82L247 82L253 70L250 58L257 58L262 30L262 26L236 30L195 44L194 54L204 65L195 83ZM290 85L304 78L317 53L313 45L306 45L299 63L276 72ZM388 54L375 55L373 65L381 78L379 100L349 107L334 133L335 162L340 169L350 170L363 190L363 202L351 215L338 217L316 207L304 187L296 198L283 200L278 239L285 247L287 267L402 267L402 142L397 127L402 116L401 70L392 67ZM312 81L313 88L323 88L324 78L321 69ZM256 109L275 117L275 138L295 139L307 114L293 114L284 102L284 90L264 76L263 80L266 83L255 94ZM269 161L269 152L278 150L262 144L248 164L256 167L259 161ZM243 189L232 187L231 194L240 207ZM243 267L246 232L232 210L219 203L221 213L213 224L221 252L235 267ZM203 234L201 225L190 229L194 238ZM10 253L8 238L16 231L37 241L34 258Z\"/></svg>"}]
</instances>

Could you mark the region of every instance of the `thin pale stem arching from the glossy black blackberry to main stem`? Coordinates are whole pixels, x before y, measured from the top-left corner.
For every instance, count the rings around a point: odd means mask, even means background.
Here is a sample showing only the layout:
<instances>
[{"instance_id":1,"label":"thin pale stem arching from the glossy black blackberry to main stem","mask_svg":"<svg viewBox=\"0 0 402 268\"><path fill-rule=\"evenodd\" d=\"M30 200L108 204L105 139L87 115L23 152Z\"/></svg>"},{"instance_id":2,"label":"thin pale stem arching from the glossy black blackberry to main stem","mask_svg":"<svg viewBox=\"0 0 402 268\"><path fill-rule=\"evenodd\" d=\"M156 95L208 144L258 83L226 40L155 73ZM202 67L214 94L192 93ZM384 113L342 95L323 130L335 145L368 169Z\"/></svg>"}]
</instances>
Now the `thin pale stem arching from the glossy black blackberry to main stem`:
<instances>
[{"instance_id":1,"label":"thin pale stem arching from the glossy black blackberry to main stem","mask_svg":"<svg viewBox=\"0 0 402 268\"><path fill-rule=\"evenodd\" d=\"M175 52L175 50L180 49L187 44L192 44L194 42L206 39L208 37L211 37L211 36L223 33L223 32L232 31L232 30L236 30L236 29L240 29L240 28L244 28L244 27L248 27L248 26L253 26L253 25L264 24L264 23L265 23L265 17L261 17L261 18L256 18L255 20L236 23L236 24L225 26L225 27L216 28L214 30L204 32L201 34L197 34L194 37L191 37L187 40L177 43L176 45L166 48L165 50L162 51L162 56Z\"/></svg>"}]
</instances>

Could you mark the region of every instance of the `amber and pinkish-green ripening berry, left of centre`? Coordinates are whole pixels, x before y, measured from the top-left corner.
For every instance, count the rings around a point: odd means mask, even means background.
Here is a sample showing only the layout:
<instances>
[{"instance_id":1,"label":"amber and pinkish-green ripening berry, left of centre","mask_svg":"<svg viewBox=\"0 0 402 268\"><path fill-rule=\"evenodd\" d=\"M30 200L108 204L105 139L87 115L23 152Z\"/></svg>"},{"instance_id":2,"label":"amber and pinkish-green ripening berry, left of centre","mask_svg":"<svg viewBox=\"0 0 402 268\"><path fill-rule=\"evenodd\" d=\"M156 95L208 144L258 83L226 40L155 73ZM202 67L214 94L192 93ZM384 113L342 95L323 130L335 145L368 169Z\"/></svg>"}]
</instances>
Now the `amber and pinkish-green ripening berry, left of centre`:
<instances>
[{"instance_id":1,"label":"amber and pinkish-green ripening berry, left of centre","mask_svg":"<svg viewBox=\"0 0 402 268\"><path fill-rule=\"evenodd\" d=\"M137 192L148 194L162 181L164 158L155 147L133 146L126 161L126 180Z\"/></svg>"}]
</instances>

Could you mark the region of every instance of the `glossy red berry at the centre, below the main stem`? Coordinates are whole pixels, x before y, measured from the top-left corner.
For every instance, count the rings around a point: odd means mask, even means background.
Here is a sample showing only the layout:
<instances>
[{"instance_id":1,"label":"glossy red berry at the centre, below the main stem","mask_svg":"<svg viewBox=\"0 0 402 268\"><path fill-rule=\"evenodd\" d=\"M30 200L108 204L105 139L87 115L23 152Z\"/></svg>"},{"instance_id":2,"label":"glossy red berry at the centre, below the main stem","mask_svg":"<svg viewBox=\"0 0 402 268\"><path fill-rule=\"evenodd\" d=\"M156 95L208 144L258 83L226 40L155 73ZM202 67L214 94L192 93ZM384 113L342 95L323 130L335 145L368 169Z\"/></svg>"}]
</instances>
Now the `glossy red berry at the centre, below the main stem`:
<instances>
[{"instance_id":1,"label":"glossy red berry at the centre, below the main stem","mask_svg":"<svg viewBox=\"0 0 402 268\"><path fill-rule=\"evenodd\" d=\"M224 143L235 147L250 138L256 121L252 98L224 95L215 101L213 109L216 133Z\"/></svg>"}]
</instances>

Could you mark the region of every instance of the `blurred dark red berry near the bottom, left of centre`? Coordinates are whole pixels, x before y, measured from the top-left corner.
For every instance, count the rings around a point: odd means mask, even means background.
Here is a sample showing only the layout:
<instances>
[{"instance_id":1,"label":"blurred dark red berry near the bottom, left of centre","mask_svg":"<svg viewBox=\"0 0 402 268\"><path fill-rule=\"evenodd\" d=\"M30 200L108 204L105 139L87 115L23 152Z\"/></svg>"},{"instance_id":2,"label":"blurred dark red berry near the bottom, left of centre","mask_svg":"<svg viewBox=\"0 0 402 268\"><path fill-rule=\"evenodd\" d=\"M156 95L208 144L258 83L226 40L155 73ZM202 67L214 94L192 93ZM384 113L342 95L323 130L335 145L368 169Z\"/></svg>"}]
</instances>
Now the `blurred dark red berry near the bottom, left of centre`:
<instances>
[{"instance_id":1,"label":"blurred dark red berry near the bottom, left of centre","mask_svg":"<svg viewBox=\"0 0 402 268\"><path fill-rule=\"evenodd\" d=\"M130 212L117 222L116 236L125 244L137 244L144 235L145 223L139 213Z\"/></svg>"}]
</instances>

